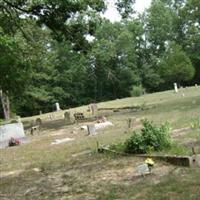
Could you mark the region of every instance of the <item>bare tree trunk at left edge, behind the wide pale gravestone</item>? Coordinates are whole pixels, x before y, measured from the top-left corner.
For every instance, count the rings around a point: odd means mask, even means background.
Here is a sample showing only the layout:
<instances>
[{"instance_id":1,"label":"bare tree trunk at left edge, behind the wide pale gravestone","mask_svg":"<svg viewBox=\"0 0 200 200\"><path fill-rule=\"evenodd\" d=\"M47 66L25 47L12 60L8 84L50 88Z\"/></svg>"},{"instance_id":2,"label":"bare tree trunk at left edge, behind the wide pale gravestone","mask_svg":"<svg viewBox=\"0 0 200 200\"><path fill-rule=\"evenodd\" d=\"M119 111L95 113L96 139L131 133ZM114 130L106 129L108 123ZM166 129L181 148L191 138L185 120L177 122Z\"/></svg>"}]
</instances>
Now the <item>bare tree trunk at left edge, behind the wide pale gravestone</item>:
<instances>
[{"instance_id":1,"label":"bare tree trunk at left edge, behind the wide pale gravestone","mask_svg":"<svg viewBox=\"0 0 200 200\"><path fill-rule=\"evenodd\" d=\"M8 92L5 93L3 92L3 90L0 90L0 98L3 107L4 118L8 120L10 119L10 101L8 97Z\"/></svg>"}]
</instances>

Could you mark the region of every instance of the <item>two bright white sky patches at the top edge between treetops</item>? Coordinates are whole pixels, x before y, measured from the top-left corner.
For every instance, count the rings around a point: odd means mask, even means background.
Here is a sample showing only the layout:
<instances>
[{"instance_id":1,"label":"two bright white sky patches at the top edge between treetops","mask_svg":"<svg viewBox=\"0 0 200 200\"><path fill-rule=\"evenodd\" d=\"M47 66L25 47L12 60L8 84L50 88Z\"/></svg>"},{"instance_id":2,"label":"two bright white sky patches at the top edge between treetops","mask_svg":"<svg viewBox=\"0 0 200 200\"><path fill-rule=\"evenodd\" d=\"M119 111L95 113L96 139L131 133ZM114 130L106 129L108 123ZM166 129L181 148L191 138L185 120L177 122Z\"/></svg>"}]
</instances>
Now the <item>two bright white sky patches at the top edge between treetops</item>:
<instances>
[{"instance_id":1,"label":"two bright white sky patches at the top edge between treetops","mask_svg":"<svg viewBox=\"0 0 200 200\"><path fill-rule=\"evenodd\" d=\"M111 22L119 21L120 15L116 10L115 2L116 0L107 0L108 10L105 12L104 16L108 18ZM135 9L137 12L141 13L151 4L151 0L136 0Z\"/></svg>"}]
</instances>

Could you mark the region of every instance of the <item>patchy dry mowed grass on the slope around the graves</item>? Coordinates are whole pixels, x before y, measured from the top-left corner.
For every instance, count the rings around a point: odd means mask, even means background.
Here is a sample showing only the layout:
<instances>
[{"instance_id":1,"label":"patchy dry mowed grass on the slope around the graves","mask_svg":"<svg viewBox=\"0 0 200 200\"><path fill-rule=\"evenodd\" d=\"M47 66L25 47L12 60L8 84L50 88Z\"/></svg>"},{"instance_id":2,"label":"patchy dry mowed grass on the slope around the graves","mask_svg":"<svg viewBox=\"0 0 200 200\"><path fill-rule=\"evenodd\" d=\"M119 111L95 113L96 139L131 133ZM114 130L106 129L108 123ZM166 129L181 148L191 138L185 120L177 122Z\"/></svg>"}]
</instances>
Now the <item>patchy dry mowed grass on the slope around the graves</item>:
<instances>
[{"instance_id":1,"label":"patchy dry mowed grass on the slope around the graves","mask_svg":"<svg viewBox=\"0 0 200 200\"><path fill-rule=\"evenodd\" d=\"M153 173L139 176L141 158L96 153L97 142L104 145L124 142L130 137L127 119L147 118L160 124L169 121L173 129L190 127L200 117L200 88L184 88L175 94L166 91L141 97L102 102L98 108L141 106L132 112L100 111L109 114L114 126L99 130L95 136L81 131L82 124L66 125L65 111L56 113L40 133L30 136L29 143L0 150L0 199L200 199L200 169L172 166L156 161ZM87 106L71 108L84 112ZM23 119L30 121L49 114ZM86 123L87 124L87 123ZM137 124L137 125L138 125ZM138 127L135 127L138 128ZM165 154L190 155L192 147L199 152L199 130L189 130L174 137L172 149ZM51 145L55 139L73 141Z\"/></svg>"}]
</instances>

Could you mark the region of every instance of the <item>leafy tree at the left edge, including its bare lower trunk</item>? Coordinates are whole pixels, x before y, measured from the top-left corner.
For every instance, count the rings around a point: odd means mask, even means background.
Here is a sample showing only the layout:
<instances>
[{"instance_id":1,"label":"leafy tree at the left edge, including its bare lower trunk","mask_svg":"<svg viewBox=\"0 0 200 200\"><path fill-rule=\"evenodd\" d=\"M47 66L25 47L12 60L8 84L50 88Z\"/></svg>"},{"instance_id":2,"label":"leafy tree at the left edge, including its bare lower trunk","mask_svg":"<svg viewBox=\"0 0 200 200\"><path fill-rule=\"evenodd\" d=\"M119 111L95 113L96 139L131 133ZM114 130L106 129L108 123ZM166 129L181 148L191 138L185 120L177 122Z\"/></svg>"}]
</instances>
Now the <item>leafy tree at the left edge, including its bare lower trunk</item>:
<instances>
[{"instance_id":1,"label":"leafy tree at the left edge, including its bare lower trunk","mask_svg":"<svg viewBox=\"0 0 200 200\"><path fill-rule=\"evenodd\" d=\"M6 34L0 27L0 98L5 119L10 118L9 95L19 94L29 71L28 48L19 33Z\"/></svg>"}]
</instances>

